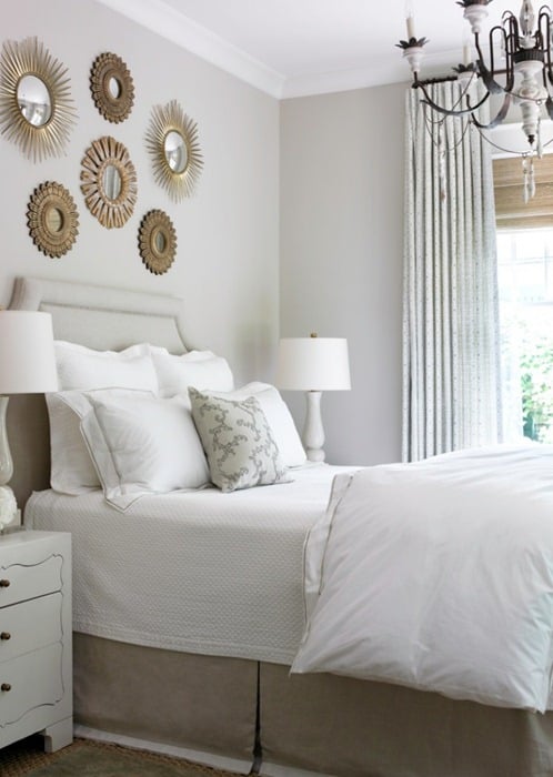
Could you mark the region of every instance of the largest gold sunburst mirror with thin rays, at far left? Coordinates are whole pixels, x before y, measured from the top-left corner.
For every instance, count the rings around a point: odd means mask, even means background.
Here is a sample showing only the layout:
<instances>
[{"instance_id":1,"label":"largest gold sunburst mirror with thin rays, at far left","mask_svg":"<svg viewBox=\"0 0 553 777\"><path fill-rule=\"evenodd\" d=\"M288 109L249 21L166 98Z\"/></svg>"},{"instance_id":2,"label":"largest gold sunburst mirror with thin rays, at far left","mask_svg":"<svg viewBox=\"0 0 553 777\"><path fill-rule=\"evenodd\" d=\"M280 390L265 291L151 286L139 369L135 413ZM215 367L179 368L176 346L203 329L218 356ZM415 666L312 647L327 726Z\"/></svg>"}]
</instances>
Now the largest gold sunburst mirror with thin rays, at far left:
<instances>
[{"instance_id":1,"label":"largest gold sunburst mirror with thin rays, at far left","mask_svg":"<svg viewBox=\"0 0 553 777\"><path fill-rule=\"evenodd\" d=\"M76 123L67 72L37 38L2 46L0 132L33 162L59 157Z\"/></svg>"}]
</instances>

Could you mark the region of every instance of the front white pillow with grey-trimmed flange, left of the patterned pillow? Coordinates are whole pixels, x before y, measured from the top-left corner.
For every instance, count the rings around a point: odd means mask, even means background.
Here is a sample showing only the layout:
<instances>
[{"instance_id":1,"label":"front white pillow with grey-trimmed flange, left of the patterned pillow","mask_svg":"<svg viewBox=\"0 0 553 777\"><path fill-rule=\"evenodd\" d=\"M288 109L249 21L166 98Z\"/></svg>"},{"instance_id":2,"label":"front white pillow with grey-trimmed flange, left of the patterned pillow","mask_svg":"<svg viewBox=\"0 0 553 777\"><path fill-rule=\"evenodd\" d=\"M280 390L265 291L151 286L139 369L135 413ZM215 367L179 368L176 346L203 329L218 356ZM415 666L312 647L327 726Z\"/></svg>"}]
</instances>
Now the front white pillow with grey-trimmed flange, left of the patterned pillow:
<instances>
[{"instance_id":1,"label":"front white pillow with grey-trimmed flange, left of the patterned pillow","mask_svg":"<svg viewBox=\"0 0 553 777\"><path fill-rule=\"evenodd\" d=\"M209 468L182 397L97 398L81 432L108 502L127 509L144 493L200 488Z\"/></svg>"}]
</instances>

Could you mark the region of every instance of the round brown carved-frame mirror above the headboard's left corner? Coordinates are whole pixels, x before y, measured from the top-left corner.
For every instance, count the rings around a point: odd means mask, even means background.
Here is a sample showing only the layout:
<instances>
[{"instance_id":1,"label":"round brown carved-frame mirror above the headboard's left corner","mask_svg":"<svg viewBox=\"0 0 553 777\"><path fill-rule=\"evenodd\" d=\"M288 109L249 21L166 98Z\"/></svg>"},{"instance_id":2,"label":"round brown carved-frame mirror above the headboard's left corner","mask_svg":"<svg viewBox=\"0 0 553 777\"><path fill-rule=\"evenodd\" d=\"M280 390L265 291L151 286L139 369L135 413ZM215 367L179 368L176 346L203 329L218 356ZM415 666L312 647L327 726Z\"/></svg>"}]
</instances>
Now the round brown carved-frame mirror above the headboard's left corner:
<instances>
[{"instance_id":1,"label":"round brown carved-frame mirror above the headboard's left corner","mask_svg":"<svg viewBox=\"0 0 553 777\"><path fill-rule=\"evenodd\" d=\"M44 181L31 194L27 210L29 234L47 256L63 256L79 233L79 214L70 192L54 181Z\"/></svg>"}]
</instances>

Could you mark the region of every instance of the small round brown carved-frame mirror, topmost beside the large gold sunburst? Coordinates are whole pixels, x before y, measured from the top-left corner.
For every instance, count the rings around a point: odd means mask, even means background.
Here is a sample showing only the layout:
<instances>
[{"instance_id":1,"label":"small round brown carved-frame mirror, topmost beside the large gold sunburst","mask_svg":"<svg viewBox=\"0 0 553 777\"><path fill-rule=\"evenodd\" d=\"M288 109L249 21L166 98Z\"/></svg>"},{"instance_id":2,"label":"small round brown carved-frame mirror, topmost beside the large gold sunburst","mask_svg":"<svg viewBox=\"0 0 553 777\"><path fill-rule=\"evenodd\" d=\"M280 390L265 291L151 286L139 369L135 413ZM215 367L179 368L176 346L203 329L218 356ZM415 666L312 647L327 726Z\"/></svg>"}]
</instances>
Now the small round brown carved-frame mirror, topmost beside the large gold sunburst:
<instances>
[{"instance_id":1,"label":"small round brown carved-frame mirror, topmost beside the large gold sunburst","mask_svg":"<svg viewBox=\"0 0 553 777\"><path fill-rule=\"evenodd\" d=\"M115 124L127 119L134 102L134 84L121 57L107 51L95 58L90 70L90 91L104 119Z\"/></svg>"}]
</instances>

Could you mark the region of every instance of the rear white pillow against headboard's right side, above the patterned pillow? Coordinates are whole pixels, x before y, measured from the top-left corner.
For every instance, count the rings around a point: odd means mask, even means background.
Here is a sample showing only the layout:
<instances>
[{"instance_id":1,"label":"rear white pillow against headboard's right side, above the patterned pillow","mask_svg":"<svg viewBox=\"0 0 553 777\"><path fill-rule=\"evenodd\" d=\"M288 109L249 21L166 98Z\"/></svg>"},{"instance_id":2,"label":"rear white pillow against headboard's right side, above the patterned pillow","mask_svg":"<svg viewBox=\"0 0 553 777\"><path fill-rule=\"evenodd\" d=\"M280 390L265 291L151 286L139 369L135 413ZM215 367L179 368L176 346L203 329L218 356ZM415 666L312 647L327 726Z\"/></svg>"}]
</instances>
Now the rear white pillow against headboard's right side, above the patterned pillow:
<instances>
[{"instance_id":1,"label":"rear white pillow against headboard's right side, above the patterned pillow","mask_svg":"<svg viewBox=\"0 0 553 777\"><path fill-rule=\"evenodd\" d=\"M189 386L210 391L232 391L234 379L229 363L211 351L189 351L180 356L151 345L160 396L181 394L188 401Z\"/></svg>"}]
</instances>

